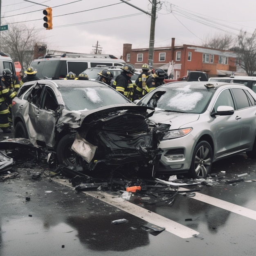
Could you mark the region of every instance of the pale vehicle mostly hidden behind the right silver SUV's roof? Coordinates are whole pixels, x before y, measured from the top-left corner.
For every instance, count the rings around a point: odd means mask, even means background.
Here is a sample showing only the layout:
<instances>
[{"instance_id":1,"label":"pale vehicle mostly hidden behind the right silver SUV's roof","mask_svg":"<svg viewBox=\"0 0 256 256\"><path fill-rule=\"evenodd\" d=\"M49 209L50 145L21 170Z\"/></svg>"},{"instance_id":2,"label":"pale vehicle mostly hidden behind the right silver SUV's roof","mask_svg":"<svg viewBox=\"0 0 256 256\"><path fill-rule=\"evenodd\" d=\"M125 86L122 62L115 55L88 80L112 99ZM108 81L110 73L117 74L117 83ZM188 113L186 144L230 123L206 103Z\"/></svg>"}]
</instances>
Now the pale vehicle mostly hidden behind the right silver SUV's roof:
<instances>
[{"instance_id":1,"label":"pale vehicle mostly hidden behind the right silver SUV's roof","mask_svg":"<svg viewBox=\"0 0 256 256\"><path fill-rule=\"evenodd\" d=\"M209 81L225 83L241 83L256 92L256 76L228 76L228 77L210 77Z\"/></svg>"}]
</instances>

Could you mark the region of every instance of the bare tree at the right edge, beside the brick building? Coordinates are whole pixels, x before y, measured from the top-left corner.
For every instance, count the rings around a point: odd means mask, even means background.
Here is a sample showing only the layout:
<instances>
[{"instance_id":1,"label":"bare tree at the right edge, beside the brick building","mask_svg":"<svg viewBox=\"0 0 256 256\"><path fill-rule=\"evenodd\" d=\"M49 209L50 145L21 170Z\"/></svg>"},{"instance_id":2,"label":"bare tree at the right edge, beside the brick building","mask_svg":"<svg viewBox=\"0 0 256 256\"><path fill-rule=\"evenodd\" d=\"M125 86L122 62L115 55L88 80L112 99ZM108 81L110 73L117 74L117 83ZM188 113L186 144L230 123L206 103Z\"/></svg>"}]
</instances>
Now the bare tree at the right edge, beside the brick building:
<instances>
[{"instance_id":1,"label":"bare tree at the right edge, beside the brick building","mask_svg":"<svg viewBox=\"0 0 256 256\"><path fill-rule=\"evenodd\" d=\"M253 76L256 71L256 29L251 37L246 31L241 30L238 35L238 46L231 50L236 52L240 67L248 76Z\"/></svg>"}]
</instances>

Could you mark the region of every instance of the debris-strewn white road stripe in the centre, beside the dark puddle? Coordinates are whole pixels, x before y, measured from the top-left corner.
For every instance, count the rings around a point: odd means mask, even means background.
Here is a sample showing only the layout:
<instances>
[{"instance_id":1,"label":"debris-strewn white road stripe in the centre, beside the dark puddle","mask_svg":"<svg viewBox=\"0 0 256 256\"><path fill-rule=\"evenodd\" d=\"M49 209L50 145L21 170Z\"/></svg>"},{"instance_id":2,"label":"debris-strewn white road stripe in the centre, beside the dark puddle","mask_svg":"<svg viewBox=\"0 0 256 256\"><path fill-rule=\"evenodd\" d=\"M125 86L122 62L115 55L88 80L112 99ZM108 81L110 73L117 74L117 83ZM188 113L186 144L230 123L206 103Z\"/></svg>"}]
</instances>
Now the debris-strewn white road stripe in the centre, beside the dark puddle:
<instances>
[{"instance_id":1,"label":"debris-strewn white road stripe in the centre, beside the dark puddle","mask_svg":"<svg viewBox=\"0 0 256 256\"><path fill-rule=\"evenodd\" d=\"M130 203L121 198L120 196L110 195L109 193L103 191L83 191L83 193L93 196L94 198L97 198L108 204L111 204L151 224L157 225L159 227L164 227L166 231L181 238L190 238L194 235L199 234L199 232L191 228L188 228L173 220L165 218L157 213L150 212L147 209L144 209L136 204Z\"/></svg>"}]
</instances>

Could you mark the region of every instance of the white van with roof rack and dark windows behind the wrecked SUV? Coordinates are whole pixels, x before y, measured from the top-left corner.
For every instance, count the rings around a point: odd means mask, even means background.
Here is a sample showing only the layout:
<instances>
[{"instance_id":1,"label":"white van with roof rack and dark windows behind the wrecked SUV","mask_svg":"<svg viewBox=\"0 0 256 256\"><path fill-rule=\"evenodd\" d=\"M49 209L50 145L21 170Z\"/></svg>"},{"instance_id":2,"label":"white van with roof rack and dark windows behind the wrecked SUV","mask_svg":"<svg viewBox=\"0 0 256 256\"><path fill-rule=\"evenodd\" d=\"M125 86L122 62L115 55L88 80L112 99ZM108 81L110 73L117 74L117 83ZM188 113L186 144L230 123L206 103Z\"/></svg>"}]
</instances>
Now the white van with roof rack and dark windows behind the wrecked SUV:
<instances>
[{"instance_id":1,"label":"white van with roof rack and dark windows behind the wrecked SUV","mask_svg":"<svg viewBox=\"0 0 256 256\"><path fill-rule=\"evenodd\" d=\"M78 76L88 67L96 67L97 65L121 67L124 64L126 64L124 60L112 55L49 54L32 61L30 66L37 71L36 76L40 79L63 79L68 72L73 72Z\"/></svg>"}]
</instances>

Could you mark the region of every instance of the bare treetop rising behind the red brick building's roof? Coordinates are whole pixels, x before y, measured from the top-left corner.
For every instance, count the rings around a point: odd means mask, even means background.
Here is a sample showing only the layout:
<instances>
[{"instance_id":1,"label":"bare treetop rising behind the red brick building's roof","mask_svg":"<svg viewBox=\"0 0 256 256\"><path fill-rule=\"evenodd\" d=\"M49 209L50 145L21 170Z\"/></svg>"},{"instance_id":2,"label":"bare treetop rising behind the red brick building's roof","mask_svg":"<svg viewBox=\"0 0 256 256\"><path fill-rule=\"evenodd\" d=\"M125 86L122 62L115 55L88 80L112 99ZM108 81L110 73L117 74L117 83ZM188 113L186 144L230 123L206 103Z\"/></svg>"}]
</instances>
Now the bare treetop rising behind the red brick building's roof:
<instances>
[{"instance_id":1,"label":"bare treetop rising behind the red brick building's roof","mask_svg":"<svg viewBox=\"0 0 256 256\"><path fill-rule=\"evenodd\" d=\"M234 38L231 34L215 34L207 37L202 44L203 47L210 47L213 49L229 50L234 43Z\"/></svg>"}]
</instances>

